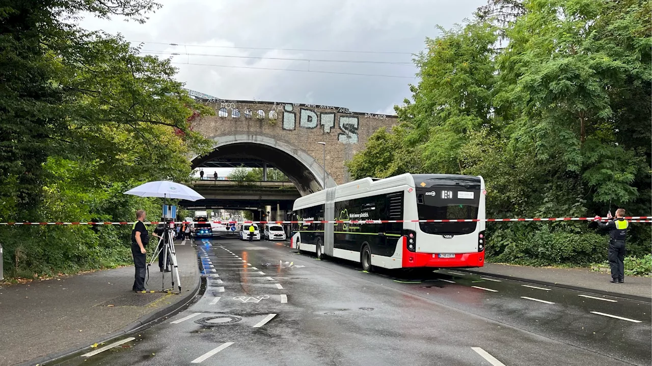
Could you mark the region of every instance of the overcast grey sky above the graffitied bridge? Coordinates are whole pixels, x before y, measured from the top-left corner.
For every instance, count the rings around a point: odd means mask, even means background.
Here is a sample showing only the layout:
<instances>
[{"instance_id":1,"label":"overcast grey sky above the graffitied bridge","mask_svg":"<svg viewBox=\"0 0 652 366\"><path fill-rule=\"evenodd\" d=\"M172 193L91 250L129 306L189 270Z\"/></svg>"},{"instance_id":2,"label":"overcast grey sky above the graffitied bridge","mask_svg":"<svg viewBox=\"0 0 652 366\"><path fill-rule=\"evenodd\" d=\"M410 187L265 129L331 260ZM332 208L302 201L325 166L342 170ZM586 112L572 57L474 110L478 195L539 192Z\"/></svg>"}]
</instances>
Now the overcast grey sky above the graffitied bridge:
<instances>
[{"instance_id":1,"label":"overcast grey sky above the graffitied bridge","mask_svg":"<svg viewBox=\"0 0 652 366\"><path fill-rule=\"evenodd\" d=\"M85 29L121 33L143 50L169 53L186 88L226 100L266 100L346 107L394 114L416 83L411 53L438 34L470 18L486 0L160 0L163 7L145 24L87 16ZM170 46L170 43L180 46ZM182 46L185 45L185 46ZM216 48L215 46L226 46ZM237 47L237 48L234 48ZM269 48L269 49L247 49ZM287 50L298 49L298 50ZM396 53L319 52L385 51ZM165 54L168 53L168 54ZM190 53L192 55L187 55ZM202 55L228 55L215 57ZM242 57L265 57L246 59ZM303 59L308 61L277 60ZM327 63L319 60L374 61ZM378 64L408 63L408 64ZM190 63L190 64L186 64ZM244 66L232 68L207 65ZM354 76L259 70L275 68L404 77Z\"/></svg>"}]
</instances>

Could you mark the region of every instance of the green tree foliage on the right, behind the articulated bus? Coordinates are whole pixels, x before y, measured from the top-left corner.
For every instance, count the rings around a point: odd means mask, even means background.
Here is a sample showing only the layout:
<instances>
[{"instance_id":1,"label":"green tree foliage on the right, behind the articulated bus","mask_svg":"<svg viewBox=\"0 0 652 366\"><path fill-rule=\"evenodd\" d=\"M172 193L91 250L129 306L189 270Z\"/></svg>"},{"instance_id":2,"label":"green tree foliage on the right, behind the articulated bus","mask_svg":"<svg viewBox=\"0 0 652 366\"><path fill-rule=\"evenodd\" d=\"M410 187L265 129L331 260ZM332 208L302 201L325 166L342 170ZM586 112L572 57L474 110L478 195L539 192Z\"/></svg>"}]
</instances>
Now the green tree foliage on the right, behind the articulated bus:
<instances>
[{"instance_id":1,"label":"green tree foliage on the right, behind the articulated bus","mask_svg":"<svg viewBox=\"0 0 652 366\"><path fill-rule=\"evenodd\" d=\"M441 29L415 59L421 81L395 107L400 124L370 137L351 176L482 175L490 217L649 216L651 3L492 0ZM649 253L649 227L632 226L630 248ZM594 260L582 223L490 229L500 260Z\"/></svg>"}]
</instances>

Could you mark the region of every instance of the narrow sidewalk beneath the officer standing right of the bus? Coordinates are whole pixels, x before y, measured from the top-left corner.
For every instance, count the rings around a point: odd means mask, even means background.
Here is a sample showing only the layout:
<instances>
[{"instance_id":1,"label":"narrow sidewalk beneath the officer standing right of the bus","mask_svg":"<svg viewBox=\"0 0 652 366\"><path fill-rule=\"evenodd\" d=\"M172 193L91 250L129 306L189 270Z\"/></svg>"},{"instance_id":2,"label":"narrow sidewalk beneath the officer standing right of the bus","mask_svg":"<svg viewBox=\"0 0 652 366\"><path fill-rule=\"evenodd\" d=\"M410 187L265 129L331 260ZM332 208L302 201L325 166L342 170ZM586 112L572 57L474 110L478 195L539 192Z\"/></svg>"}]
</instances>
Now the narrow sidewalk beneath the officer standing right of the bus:
<instances>
[{"instance_id":1,"label":"narrow sidewalk beneath the officer standing right of the bus","mask_svg":"<svg viewBox=\"0 0 652 366\"><path fill-rule=\"evenodd\" d=\"M485 263L484 267L463 271L652 302L650 277L625 276L625 283L610 283L611 274L584 268L542 268L495 263Z\"/></svg>"}]
</instances>

